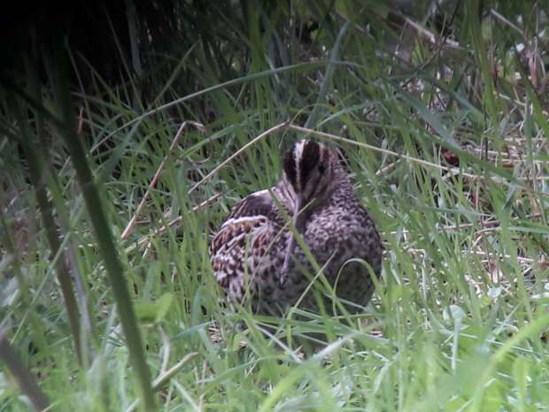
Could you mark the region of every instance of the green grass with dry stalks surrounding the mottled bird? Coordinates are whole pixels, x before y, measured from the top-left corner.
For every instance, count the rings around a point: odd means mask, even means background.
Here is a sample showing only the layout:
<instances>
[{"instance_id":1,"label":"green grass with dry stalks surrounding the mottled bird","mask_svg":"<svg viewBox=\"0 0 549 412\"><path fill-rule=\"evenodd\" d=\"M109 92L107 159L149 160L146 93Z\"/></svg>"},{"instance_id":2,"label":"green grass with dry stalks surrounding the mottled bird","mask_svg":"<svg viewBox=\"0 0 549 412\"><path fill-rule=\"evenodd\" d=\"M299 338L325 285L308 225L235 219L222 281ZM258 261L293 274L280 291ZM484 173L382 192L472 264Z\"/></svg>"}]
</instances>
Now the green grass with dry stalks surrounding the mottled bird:
<instances>
[{"instance_id":1,"label":"green grass with dry stalks surrounding the mottled bird","mask_svg":"<svg viewBox=\"0 0 549 412\"><path fill-rule=\"evenodd\" d=\"M0 411L547 409L549 11L467 2L443 30L427 8L413 29L286 7L213 7L208 36L117 87L93 72L68 95L63 58L2 83ZM173 144L184 121L205 130ZM303 136L344 149L382 234L373 302L230 312L209 235Z\"/></svg>"}]
</instances>

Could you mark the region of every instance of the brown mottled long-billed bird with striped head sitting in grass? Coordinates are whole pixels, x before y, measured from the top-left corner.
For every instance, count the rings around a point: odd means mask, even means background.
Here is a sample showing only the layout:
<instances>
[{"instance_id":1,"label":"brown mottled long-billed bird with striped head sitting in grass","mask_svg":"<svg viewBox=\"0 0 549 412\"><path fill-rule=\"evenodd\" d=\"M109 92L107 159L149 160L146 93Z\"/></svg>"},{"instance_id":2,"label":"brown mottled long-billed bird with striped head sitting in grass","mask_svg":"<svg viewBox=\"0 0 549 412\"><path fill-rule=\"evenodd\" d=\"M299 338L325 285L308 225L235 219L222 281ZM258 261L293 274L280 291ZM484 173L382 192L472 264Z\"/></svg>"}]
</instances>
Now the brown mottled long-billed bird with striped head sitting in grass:
<instances>
[{"instance_id":1,"label":"brown mottled long-billed bird with striped head sitting in grass","mask_svg":"<svg viewBox=\"0 0 549 412\"><path fill-rule=\"evenodd\" d=\"M250 301L255 313L318 311L309 288L317 271L300 243L344 307L363 310L375 288L371 273L381 273L382 241L341 152L309 139L285 153L278 183L242 199L222 222L210 242L213 275L230 302ZM328 295L321 299L329 304Z\"/></svg>"}]
</instances>

